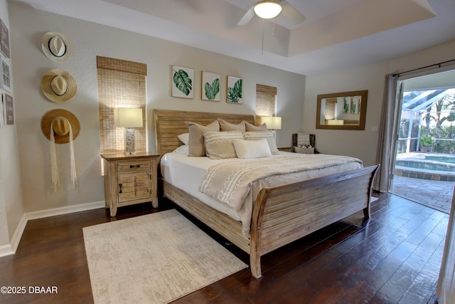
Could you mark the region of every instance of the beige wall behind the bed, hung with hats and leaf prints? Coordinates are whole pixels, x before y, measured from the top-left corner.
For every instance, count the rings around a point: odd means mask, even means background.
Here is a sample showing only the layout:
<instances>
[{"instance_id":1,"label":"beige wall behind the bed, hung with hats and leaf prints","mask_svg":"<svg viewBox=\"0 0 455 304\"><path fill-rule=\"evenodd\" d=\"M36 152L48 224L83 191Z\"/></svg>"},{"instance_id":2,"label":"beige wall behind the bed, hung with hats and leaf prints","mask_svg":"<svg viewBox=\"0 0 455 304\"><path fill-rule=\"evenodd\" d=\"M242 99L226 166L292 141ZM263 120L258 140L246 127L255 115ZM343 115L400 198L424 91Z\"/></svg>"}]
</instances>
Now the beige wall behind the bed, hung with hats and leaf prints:
<instances>
[{"instance_id":1,"label":"beige wall behind the bed, hung with hats and leaf prints","mask_svg":"<svg viewBox=\"0 0 455 304\"><path fill-rule=\"evenodd\" d=\"M20 3L11 3L9 6L11 48L14 51L14 85L21 88L16 90L15 103L23 208L26 212L75 206L105 199L100 173L96 56L119 58L147 65L149 130L152 125L150 114L154 108L254 114L256 83L277 87L277 113L284 117L283 129L277 131L279 146L289 146L291 133L299 131L301 127L305 86L303 75L97 23L37 11ZM58 31L68 36L73 44L73 56L69 61L54 63L43 55L41 38L47 31ZM196 88L193 100L171 97L171 65L194 69ZM51 68L68 70L77 80L77 95L70 102L52 103L41 93L41 77ZM222 75L223 95L220 102L200 100L202 70ZM228 75L243 78L243 105L225 102ZM57 147L60 181L63 185L55 193L51 187L49 142L41 132L40 122L45 112L55 108L73 112L80 121L80 135L75 140L75 161L80 181L77 191L68 187L70 175L68 145ZM153 138L151 134L149 138ZM149 141L149 150L154 151L154 140Z\"/></svg>"}]
</instances>

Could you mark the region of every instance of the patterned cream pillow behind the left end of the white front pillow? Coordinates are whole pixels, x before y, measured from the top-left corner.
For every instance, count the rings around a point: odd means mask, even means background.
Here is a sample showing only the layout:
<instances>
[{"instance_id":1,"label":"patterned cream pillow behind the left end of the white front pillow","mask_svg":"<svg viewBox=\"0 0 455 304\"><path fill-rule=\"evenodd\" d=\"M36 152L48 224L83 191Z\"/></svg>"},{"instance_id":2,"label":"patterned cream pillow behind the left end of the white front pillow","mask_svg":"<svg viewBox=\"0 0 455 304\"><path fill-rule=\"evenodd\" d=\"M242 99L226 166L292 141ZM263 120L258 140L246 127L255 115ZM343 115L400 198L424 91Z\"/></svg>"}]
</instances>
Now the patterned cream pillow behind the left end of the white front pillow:
<instances>
[{"instance_id":1,"label":"patterned cream pillow behind the left end of the white front pillow","mask_svg":"<svg viewBox=\"0 0 455 304\"><path fill-rule=\"evenodd\" d=\"M211 159L235 158L232 140L242 140L242 131L204 131L205 154Z\"/></svg>"}]
</instances>

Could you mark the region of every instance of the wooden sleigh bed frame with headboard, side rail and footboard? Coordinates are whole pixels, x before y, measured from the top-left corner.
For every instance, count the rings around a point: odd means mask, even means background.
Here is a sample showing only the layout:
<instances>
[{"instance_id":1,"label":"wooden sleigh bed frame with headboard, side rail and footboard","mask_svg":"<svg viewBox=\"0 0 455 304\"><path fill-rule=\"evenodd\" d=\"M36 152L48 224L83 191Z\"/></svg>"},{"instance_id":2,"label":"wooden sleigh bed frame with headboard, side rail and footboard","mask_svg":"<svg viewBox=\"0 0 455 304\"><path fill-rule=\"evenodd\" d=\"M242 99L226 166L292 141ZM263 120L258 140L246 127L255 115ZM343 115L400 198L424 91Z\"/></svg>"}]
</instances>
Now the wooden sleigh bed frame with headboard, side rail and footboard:
<instances>
[{"instance_id":1,"label":"wooden sleigh bed frame with headboard, side rail and footboard","mask_svg":"<svg viewBox=\"0 0 455 304\"><path fill-rule=\"evenodd\" d=\"M154 110L156 150L161 156L179 145L177 135L188 132L185 121L208 125L222 118L254 123L254 115ZM163 194L218 234L250 254L252 276L260 278L261 256L325 226L363 210L370 218L370 196L379 165L294 184L262 189L253 205L250 234L240 221L204 204L163 181Z\"/></svg>"}]
</instances>

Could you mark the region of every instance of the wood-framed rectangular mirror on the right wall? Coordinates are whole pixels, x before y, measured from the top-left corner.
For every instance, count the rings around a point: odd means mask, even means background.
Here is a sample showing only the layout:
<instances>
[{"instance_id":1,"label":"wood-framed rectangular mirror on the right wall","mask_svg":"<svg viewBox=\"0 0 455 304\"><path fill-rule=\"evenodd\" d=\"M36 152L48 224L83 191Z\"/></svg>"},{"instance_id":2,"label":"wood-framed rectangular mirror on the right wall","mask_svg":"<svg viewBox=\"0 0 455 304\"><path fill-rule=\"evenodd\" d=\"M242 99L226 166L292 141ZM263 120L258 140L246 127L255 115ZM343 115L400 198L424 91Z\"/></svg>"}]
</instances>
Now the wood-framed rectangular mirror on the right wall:
<instances>
[{"instance_id":1,"label":"wood-framed rectangular mirror on the right wall","mask_svg":"<svg viewBox=\"0 0 455 304\"><path fill-rule=\"evenodd\" d=\"M365 130L368 90L318 95L316 129Z\"/></svg>"}]
</instances>

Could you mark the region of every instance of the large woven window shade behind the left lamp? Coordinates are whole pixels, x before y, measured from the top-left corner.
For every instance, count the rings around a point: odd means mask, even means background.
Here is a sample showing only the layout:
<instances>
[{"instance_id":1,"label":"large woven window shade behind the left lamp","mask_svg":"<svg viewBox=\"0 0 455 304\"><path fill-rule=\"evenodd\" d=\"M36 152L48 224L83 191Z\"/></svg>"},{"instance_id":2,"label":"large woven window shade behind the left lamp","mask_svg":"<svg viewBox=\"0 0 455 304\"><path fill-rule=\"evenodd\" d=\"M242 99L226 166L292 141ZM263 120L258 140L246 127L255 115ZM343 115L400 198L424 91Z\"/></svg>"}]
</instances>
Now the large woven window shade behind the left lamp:
<instances>
[{"instance_id":1,"label":"large woven window shade behind the left lamp","mask_svg":"<svg viewBox=\"0 0 455 304\"><path fill-rule=\"evenodd\" d=\"M102 153L124 150L124 128L114 127L114 108L142 108L142 125L134 128L137 152L146 151L146 65L97 56L100 143Z\"/></svg>"}]
</instances>

